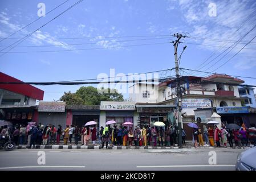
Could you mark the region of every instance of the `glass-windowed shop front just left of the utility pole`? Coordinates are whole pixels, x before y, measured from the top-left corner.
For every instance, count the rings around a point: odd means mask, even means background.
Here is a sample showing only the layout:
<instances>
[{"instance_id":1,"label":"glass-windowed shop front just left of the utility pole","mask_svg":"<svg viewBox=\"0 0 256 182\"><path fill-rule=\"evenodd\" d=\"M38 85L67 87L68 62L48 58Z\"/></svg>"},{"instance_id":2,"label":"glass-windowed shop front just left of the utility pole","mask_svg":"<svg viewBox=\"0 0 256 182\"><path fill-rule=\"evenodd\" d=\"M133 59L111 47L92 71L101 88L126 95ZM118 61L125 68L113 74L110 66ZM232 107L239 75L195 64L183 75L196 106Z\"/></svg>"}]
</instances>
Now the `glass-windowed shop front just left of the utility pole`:
<instances>
[{"instance_id":1,"label":"glass-windowed shop front just left of the utility pole","mask_svg":"<svg viewBox=\"0 0 256 182\"><path fill-rule=\"evenodd\" d=\"M169 115L173 115L173 105L136 105L137 113L139 113L139 126L153 126L156 121L164 122L170 125L172 119ZM171 114L172 113L172 114Z\"/></svg>"}]
</instances>

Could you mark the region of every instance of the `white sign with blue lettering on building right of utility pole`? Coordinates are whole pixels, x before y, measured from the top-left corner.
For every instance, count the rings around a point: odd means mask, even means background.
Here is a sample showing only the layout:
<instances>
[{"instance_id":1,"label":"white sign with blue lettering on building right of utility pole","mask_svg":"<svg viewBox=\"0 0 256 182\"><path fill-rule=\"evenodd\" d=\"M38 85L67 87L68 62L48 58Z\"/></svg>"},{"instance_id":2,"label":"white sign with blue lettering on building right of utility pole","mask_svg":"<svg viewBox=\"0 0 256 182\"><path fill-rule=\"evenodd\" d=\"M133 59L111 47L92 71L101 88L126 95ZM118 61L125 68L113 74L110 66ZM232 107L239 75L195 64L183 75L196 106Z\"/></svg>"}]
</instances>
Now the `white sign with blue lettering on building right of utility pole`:
<instances>
[{"instance_id":1,"label":"white sign with blue lettering on building right of utility pole","mask_svg":"<svg viewBox=\"0 0 256 182\"><path fill-rule=\"evenodd\" d=\"M209 108L212 107L208 99L185 98L182 100L182 108Z\"/></svg>"}]
</instances>

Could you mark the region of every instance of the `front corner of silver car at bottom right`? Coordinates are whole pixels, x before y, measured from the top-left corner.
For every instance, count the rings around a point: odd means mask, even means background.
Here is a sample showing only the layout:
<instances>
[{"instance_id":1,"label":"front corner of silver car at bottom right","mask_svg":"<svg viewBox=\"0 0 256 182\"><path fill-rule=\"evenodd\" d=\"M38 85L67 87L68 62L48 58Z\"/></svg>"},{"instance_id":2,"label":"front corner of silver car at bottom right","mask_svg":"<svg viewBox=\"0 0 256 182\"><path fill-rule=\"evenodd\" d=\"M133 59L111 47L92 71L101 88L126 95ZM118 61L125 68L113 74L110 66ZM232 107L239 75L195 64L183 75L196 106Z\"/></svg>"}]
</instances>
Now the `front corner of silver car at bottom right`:
<instances>
[{"instance_id":1,"label":"front corner of silver car at bottom right","mask_svg":"<svg viewBox=\"0 0 256 182\"><path fill-rule=\"evenodd\" d=\"M256 147L241 152L237 156L235 169L237 171L256 171Z\"/></svg>"}]
</instances>

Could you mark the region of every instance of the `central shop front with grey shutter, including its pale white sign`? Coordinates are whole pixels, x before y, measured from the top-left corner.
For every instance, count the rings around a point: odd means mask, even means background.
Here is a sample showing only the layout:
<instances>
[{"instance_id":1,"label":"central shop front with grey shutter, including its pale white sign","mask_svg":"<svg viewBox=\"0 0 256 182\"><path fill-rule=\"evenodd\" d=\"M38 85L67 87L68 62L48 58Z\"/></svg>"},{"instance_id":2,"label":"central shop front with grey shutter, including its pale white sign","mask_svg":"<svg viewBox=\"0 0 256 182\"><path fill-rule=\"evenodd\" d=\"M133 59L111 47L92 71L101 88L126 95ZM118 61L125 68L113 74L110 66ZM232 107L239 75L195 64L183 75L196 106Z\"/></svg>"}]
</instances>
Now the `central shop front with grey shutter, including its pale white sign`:
<instances>
[{"instance_id":1,"label":"central shop front with grey shutter, including its pale white sign","mask_svg":"<svg viewBox=\"0 0 256 182\"><path fill-rule=\"evenodd\" d=\"M124 122L137 124L135 102L101 102L100 126L105 126L107 121L116 121L116 126Z\"/></svg>"}]
</instances>

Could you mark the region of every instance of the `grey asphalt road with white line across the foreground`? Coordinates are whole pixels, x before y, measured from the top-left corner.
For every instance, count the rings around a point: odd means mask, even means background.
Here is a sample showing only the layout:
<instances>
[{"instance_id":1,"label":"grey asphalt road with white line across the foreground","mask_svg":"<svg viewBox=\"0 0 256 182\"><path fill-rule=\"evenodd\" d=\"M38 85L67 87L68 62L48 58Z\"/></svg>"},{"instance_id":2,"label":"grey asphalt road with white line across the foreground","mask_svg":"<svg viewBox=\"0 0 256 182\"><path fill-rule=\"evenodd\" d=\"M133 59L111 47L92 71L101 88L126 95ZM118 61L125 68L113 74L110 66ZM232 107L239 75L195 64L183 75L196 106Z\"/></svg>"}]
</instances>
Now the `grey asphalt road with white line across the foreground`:
<instances>
[{"instance_id":1,"label":"grey asphalt road with white line across the foreground","mask_svg":"<svg viewBox=\"0 0 256 182\"><path fill-rule=\"evenodd\" d=\"M45 164L39 165L39 151ZM210 151L217 164L209 165ZM0 170L235 170L237 155L231 148L176 150L14 150L0 151ZM40 160L39 162L42 162Z\"/></svg>"}]
</instances>

